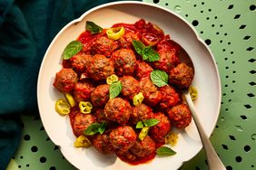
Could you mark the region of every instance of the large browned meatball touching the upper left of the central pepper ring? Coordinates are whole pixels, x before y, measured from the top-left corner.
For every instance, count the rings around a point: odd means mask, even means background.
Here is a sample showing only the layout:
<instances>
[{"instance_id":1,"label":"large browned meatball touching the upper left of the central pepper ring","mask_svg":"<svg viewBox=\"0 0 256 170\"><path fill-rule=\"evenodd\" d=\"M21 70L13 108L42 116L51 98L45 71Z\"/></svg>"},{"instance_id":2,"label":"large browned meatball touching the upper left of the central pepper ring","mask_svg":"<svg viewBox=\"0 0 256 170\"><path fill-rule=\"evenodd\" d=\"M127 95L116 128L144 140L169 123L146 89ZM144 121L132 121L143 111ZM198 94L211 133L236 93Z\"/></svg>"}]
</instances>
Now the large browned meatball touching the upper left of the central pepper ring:
<instances>
[{"instance_id":1,"label":"large browned meatball touching the upper left of the central pepper ring","mask_svg":"<svg viewBox=\"0 0 256 170\"><path fill-rule=\"evenodd\" d=\"M103 55L96 54L91 60L87 71L94 80L105 80L114 73L113 62Z\"/></svg>"}]
</instances>

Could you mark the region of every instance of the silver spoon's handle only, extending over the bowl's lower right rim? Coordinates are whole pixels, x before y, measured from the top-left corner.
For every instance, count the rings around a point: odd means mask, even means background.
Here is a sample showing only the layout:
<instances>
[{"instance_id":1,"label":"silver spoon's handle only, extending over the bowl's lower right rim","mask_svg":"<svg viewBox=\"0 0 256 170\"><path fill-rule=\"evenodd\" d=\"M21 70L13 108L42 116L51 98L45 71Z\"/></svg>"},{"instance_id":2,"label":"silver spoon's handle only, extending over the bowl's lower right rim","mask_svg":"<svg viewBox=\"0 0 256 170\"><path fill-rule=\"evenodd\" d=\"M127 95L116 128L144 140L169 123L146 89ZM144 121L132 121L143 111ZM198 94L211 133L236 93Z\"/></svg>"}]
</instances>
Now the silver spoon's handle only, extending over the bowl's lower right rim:
<instances>
[{"instance_id":1,"label":"silver spoon's handle only, extending over the bowl's lower right rim","mask_svg":"<svg viewBox=\"0 0 256 170\"><path fill-rule=\"evenodd\" d=\"M210 170L225 170L226 167L223 165L222 160L220 159L220 157L217 155L217 153L215 152L211 141L209 140L209 138L206 136L203 128L202 128L202 124L200 123L200 120L196 114L193 102L192 102L192 98L191 95L189 93L189 90L185 90L183 92L185 99L189 105L189 108L192 111L192 118L195 122L195 125L198 129L199 135L201 137L202 140L202 146L204 147L204 151L208 160L208 167Z\"/></svg>"}]
</instances>

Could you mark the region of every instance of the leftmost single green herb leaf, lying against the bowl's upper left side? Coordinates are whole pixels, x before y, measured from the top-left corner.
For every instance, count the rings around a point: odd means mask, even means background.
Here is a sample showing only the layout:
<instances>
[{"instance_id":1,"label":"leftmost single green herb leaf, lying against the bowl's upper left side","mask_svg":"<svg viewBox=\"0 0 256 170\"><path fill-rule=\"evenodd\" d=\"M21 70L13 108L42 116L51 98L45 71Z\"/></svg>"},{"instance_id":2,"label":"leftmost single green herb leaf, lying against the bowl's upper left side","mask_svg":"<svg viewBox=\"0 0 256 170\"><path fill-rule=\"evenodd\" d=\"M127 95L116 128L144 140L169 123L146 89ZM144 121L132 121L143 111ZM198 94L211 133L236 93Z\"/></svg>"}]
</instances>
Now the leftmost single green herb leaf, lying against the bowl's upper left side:
<instances>
[{"instance_id":1,"label":"leftmost single green herb leaf, lying against the bowl's upper left side","mask_svg":"<svg viewBox=\"0 0 256 170\"><path fill-rule=\"evenodd\" d=\"M76 53L80 52L83 49L84 45L82 42L72 41L67 44L64 48L64 60L72 58Z\"/></svg>"}]
</instances>

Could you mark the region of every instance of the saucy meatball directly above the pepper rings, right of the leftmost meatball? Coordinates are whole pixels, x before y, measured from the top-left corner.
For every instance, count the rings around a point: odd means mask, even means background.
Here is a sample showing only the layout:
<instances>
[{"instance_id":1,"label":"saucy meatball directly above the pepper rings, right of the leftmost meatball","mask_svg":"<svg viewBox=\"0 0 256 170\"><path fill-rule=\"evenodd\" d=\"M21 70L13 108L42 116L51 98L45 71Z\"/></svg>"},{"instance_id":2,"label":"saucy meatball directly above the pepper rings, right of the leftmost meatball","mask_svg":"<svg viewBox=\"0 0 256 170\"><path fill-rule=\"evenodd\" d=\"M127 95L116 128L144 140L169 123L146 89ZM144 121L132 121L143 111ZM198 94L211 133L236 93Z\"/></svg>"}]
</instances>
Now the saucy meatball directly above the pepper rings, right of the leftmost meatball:
<instances>
[{"instance_id":1,"label":"saucy meatball directly above the pepper rings, right of the leftmost meatball","mask_svg":"<svg viewBox=\"0 0 256 170\"><path fill-rule=\"evenodd\" d=\"M94 90L94 85L91 82L76 82L74 86L74 99L86 101L91 98L91 93Z\"/></svg>"}]
</instances>

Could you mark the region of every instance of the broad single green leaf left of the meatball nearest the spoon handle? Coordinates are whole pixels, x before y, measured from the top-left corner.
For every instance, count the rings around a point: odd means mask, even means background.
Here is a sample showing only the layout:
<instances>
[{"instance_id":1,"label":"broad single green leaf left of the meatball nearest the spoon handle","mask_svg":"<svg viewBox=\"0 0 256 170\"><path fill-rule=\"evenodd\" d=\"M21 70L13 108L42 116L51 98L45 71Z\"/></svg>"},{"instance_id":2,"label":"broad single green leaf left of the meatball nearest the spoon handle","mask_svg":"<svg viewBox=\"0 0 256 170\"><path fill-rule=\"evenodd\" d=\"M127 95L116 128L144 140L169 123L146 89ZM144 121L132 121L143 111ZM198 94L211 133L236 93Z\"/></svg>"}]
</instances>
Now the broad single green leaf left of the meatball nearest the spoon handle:
<instances>
[{"instance_id":1,"label":"broad single green leaf left of the meatball nearest the spoon handle","mask_svg":"<svg viewBox=\"0 0 256 170\"><path fill-rule=\"evenodd\" d=\"M154 70L150 73L150 78L157 87L168 85L168 74L165 71Z\"/></svg>"}]
</instances>

